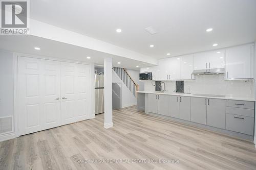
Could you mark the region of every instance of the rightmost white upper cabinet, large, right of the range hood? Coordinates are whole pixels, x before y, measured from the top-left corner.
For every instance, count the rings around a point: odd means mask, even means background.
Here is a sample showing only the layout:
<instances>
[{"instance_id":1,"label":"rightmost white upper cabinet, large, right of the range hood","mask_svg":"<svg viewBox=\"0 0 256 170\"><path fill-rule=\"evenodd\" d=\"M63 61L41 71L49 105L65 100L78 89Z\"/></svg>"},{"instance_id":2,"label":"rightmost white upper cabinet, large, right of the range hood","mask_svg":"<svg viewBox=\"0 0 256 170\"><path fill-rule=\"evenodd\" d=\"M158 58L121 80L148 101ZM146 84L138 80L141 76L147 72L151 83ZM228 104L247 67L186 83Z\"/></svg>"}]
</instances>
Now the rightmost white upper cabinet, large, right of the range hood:
<instances>
[{"instance_id":1,"label":"rightmost white upper cabinet, large, right of the range hood","mask_svg":"<svg viewBox=\"0 0 256 170\"><path fill-rule=\"evenodd\" d=\"M253 78L253 44L226 49L225 79Z\"/></svg>"}]
</instances>

